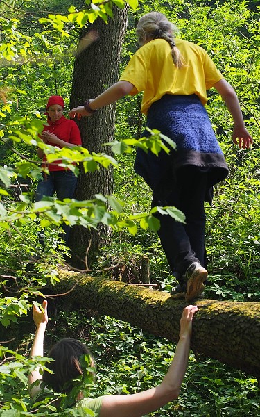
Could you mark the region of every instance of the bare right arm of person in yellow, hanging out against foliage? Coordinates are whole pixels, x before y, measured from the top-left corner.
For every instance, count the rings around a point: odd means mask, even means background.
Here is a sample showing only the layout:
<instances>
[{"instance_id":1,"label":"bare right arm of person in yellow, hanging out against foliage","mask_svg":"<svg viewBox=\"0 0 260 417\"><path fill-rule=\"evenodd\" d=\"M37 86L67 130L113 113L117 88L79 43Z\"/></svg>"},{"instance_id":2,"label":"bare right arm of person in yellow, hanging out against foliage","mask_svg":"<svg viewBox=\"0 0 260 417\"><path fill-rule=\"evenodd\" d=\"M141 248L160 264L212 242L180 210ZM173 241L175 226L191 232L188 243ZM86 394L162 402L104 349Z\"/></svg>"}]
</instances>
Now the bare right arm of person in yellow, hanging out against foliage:
<instances>
[{"instance_id":1,"label":"bare right arm of person in yellow, hanging out against foliage","mask_svg":"<svg viewBox=\"0 0 260 417\"><path fill-rule=\"evenodd\" d=\"M239 99L237 98L234 88L232 88L232 86L227 83L225 79L221 79L214 84L214 88L216 88L225 101L225 104L234 120L234 130L232 134L234 144L239 145L240 148L243 147L243 149L248 149L250 145L252 145L253 140L250 133L248 133L247 129L245 129L245 122L243 120Z\"/></svg>"}]
</instances>

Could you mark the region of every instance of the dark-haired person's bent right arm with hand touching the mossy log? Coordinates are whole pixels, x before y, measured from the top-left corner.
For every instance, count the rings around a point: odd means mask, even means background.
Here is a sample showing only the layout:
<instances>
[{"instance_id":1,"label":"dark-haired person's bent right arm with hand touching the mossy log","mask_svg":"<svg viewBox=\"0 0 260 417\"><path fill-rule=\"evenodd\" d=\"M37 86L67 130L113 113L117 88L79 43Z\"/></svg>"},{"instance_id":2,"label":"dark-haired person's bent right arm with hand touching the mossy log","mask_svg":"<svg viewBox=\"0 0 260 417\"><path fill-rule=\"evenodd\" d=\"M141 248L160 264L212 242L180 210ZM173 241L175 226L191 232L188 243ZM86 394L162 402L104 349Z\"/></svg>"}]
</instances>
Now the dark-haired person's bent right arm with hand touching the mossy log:
<instances>
[{"instance_id":1,"label":"dark-haired person's bent right arm with hand touching the mossy log","mask_svg":"<svg viewBox=\"0 0 260 417\"><path fill-rule=\"evenodd\" d=\"M100 417L141 417L177 398L189 359L192 319L197 306L187 306L180 320L180 340L168 373L159 386L132 395L106 395Z\"/></svg>"}]
</instances>

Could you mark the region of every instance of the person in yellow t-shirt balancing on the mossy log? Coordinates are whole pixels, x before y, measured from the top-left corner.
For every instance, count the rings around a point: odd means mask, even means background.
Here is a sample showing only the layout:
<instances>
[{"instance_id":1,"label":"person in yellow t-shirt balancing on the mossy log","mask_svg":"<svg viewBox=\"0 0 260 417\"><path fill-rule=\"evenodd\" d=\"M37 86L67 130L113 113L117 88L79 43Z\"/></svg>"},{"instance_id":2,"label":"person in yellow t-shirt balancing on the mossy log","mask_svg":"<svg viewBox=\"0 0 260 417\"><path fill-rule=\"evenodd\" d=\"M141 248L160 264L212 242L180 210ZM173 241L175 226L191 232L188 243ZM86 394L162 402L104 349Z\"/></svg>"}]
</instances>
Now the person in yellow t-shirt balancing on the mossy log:
<instances>
[{"instance_id":1,"label":"person in yellow t-shirt balancing on the mossy log","mask_svg":"<svg viewBox=\"0 0 260 417\"><path fill-rule=\"evenodd\" d=\"M130 59L120 80L69 115L90 116L125 95L144 92L141 111L146 126L171 138L177 152L159 156L137 150L135 171L153 190L153 206L175 206L185 224L157 213L159 238L170 268L179 281L172 297L187 301L201 295L207 280L205 208L213 186L227 177L228 169L204 105L211 87L223 97L234 120L232 140L249 148L239 100L207 52L196 44L175 39L175 26L159 12L148 13L137 24L141 47ZM144 136L149 136L146 130Z\"/></svg>"}]
</instances>

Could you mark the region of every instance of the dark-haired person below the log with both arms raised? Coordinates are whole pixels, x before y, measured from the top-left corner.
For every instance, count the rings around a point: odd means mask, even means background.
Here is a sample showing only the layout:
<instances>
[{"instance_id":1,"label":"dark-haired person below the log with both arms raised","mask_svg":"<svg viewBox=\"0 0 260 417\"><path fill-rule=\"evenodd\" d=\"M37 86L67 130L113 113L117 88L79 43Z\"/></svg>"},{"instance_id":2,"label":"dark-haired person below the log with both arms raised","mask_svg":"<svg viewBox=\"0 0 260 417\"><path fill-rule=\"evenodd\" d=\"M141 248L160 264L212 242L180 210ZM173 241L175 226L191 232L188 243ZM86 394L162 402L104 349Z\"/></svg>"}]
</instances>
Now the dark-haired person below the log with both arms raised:
<instances>
[{"instance_id":1,"label":"dark-haired person below the log with both arms raised","mask_svg":"<svg viewBox=\"0 0 260 417\"><path fill-rule=\"evenodd\" d=\"M193 316L198 311L197 306L185 307L180 319L180 340L168 373L161 384L135 394L129 395L103 395L98 398L83 398L78 391L74 407L79 409L80 416L90 416L88 409L94 411L98 417L141 417L163 407L178 397L189 359L189 346ZM31 357L44 356L44 334L48 322L47 302L42 303L42 310L33 306L33 320L36 326L35 338L31 348ZM75 385L72 379L83 375L83 355L87 355L91 370L94 372L94 359L87 347L72 338L61 339L49 352L54 359L47 367L53 371L49 373L36 368L28 375L28 386L31 398L36 403L44 398L54 402L55 393L69 394ZM39 383L37 383L39 382ZM51 391L53 389L53 391Z\"/></svg>"}]
</instances>

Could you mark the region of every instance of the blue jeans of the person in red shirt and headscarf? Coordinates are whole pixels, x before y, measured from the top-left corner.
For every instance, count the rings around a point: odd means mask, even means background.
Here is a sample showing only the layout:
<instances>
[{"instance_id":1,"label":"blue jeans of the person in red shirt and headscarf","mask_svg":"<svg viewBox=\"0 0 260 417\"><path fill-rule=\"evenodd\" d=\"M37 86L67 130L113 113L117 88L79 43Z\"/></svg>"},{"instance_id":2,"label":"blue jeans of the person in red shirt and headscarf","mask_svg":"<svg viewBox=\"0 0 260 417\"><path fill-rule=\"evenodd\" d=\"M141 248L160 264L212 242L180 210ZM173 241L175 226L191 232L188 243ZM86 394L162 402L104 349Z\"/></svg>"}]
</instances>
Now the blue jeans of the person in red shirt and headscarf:
<instances>
[{"instance_id":1,"label":"blue jeans of the person in red shirt and headscarf","mask_svg":"<svg viewBox=\"0 0 260 417\"><path fill-rule=\"evenodd\" d=\"M77 177L72 171L52 171L49 175L42 177L35 193L35 202L40 202L42 197L52 197L56 192L57 198L72 198L77 185ZM64 230L64 241L67 245L69 240L69 225L62 224ZM42 237L40 238L42 241Z\"/></svg>"}]
</instances>

